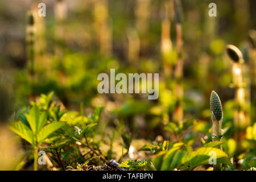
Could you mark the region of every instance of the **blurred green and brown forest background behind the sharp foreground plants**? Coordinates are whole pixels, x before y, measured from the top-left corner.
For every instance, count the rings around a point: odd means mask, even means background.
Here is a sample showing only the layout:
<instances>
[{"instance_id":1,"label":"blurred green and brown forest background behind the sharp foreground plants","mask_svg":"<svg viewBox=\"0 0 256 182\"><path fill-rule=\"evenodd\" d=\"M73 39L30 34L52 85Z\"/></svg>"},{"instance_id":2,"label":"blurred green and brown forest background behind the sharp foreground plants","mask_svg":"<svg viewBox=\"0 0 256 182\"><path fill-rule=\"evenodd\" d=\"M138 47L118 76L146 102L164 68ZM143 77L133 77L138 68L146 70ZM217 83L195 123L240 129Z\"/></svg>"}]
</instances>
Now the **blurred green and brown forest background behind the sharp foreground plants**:
<instances>
[{"instance_id":1,"label":"blurred green and brown forest background behind the sharp foreground plants","mask_svg":"<svg viewBox=\"0 0 256 182\"><path fill-rule=\"evenodd\" d=\"M46 4L46 17L38 16L40 2ZM83 105L85 115L105 106L102 130L122 122L134 138L154 140L164 136L166 123L196 119L196 131L208 133L209 96L215 90L224 107L223 125L233 127L233 63L225 51L233 44L244 59L242 129L253 125L256 1L175 2L0 0L0 121L54 91L63 107ZM212 2L216 17L208 15ZM110 68L116 74L159 73L158 100L99 94L97 76Z\"/></svg>"}]
</instances>

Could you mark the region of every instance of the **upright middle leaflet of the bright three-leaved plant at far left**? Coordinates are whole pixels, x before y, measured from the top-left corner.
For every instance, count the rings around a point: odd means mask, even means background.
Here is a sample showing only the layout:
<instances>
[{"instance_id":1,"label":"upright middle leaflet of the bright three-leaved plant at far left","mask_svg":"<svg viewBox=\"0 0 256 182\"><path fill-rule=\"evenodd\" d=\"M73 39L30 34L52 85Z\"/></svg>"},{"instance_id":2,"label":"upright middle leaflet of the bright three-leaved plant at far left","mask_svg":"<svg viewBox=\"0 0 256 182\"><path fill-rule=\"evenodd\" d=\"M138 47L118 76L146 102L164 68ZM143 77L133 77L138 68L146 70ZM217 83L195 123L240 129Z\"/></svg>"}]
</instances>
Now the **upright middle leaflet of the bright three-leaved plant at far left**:
<instances>
[{"instance_id":1,"label":"upright middle leaflet of the bright three-leaved plant at far left","mask_svg":"<svg viewBox=\"0 0 256 182\"><path fill-rule=\"evenodd\" d=\"M46 112L40 114L39 108L36 105L32 106L28 114L25 115L34 134L37 134L47 121Z\"/></svg>"}]
</instances>

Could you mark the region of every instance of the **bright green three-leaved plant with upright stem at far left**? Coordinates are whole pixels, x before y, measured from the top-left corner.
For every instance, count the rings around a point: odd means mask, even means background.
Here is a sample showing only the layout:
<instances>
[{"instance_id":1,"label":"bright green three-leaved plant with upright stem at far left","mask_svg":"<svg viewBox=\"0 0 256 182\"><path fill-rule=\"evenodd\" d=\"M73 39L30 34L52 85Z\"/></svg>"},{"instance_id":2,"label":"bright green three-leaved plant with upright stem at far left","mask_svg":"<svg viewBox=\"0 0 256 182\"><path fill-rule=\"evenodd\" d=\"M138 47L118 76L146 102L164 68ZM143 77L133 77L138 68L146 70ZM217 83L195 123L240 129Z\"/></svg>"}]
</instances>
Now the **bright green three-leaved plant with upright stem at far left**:
<instances>
[{"instance_id":1,"label":"bright green three-leaved plant with upright stem at far left","mask_svg":"<svg viewBox=\"0 0 256 182\"><path fill-rule=\"evenodd\" d=\"M20 121L10 122L9 128L30 143L34 149L34 170L38 169L38 148L40 144L54 131L65 125L65 122L52 122L47 124L46 111L40 111L38 106L34 105L24 113ZM18 118L15 118L15 120ZM25 122L27 121L27 122Z\"/></svg>"}]
</instances>

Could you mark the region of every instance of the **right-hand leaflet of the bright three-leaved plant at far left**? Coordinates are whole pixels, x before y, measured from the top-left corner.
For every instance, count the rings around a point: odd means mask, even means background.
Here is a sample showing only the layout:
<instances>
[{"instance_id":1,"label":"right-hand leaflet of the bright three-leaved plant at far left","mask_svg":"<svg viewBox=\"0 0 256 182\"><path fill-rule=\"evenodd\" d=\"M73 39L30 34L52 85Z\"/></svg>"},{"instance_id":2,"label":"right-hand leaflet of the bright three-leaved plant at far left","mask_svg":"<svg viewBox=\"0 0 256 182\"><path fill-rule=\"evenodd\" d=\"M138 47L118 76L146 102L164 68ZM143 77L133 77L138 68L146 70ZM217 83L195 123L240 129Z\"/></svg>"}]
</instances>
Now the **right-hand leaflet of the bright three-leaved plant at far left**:
<instances>
[{"instance_id":1,"label":"right-hand leaflet of the bright three-leaved plant at far left","mask_svg":"<svg viewBox=\"0 0 256 182\"><path fill-rule=\"evenodd\" d=\"M42 143L43 140L46 139L49 134L53 133L57 129L60 129L60 127L63 127L64 125L65 122L53 122L49 123L49 125L44 126L37 135L38 143Z\"/></svg>"}]
</instances>

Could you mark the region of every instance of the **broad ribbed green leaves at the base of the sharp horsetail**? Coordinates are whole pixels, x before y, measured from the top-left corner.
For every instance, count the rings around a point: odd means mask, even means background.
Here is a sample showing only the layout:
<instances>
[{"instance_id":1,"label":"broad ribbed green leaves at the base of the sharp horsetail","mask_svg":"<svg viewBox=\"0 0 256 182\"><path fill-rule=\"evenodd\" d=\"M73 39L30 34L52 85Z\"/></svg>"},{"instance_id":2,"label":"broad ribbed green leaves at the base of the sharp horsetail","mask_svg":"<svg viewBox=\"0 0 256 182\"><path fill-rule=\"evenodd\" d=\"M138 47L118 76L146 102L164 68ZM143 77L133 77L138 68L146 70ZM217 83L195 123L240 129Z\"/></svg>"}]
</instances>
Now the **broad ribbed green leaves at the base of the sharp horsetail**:
<instances>
[{"instance_id":1,"label":"broad ribbed green leaves at the base of the sharp horsetail","mask_svg":"<svg viewBox=\"0 0 256 182\"><path fill-rule=\"evenodd\" d=\"M204 146L192 151L192 148L185 143L175 143L167 151L161 151L148 160L147 169L154 170L174 170L175 168L192 170L195 167L209 164L209 152L216 152L217 164L223 163L233 167L228 159L228 154L216 146L224 142L209 142Z\"/></svg>"}]
</instances>

